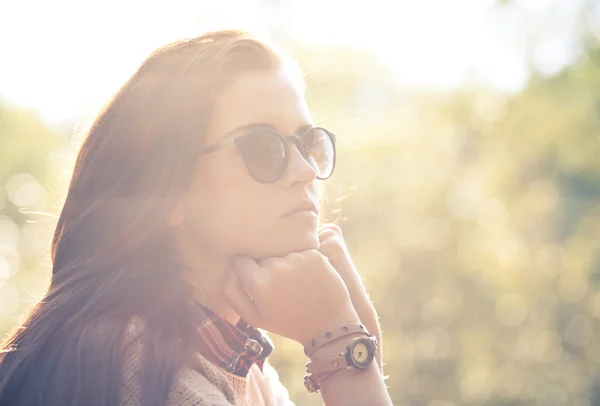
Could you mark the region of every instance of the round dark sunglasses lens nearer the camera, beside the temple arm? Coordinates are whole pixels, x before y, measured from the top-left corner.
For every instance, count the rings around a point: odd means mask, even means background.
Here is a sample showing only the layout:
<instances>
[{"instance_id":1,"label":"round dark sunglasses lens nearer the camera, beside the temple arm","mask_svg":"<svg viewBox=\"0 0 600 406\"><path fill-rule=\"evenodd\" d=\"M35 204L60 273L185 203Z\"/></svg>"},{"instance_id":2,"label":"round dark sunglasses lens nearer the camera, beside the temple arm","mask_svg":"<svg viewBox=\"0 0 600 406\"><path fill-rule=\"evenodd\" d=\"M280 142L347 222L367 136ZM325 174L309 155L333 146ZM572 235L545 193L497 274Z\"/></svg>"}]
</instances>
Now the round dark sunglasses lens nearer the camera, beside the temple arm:
<instances>
[{"instance_id":1,"label":"round dark sunglasses lens nearer the camera, beside the temple arm","mask_svg":"<svg viewBox=\"0 0 600 406\"><path fill-rule=\"evenodd\" d=\"M285 171L285 146L274 131L254 131L236 138L235 144L257 181L275 182Z\"/></svg>"}]
</instances>

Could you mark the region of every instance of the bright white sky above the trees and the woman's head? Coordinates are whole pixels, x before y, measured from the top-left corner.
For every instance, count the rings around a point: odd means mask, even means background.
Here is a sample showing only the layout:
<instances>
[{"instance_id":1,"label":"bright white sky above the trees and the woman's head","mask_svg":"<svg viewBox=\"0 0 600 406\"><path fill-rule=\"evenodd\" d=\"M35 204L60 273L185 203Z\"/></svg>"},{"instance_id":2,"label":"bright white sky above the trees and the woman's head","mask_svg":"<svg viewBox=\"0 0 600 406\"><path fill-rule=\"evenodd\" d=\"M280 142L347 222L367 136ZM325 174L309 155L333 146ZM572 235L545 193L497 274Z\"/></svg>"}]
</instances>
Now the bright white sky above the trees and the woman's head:
<instances>
[{"instance_id":1,"label":"bright white sky above the trees and the woman's head","mask_svg":"<svg viewBox=\"0 0 600 406\"><path fill-rule=\"evenodd\" d=\"M92 114L156 47L223 26L365 48L402 85L515 91L528 77L526 38L542 71L576 55L583 0L2 1L0 98L61 122Z\"/></svg>"}]
</instances>

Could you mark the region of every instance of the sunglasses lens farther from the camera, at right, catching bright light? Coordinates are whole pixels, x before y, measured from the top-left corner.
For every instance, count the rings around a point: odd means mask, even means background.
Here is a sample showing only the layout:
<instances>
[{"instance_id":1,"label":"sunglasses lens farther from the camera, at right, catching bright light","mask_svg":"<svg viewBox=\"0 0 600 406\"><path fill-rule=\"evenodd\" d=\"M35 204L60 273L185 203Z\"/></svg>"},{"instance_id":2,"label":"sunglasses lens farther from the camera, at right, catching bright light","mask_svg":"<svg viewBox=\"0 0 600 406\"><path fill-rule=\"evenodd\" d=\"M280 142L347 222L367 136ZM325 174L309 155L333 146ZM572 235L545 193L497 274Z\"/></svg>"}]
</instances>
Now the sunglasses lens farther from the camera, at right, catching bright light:
<instances>
[{"instance_id":1,"label":"sunglasses lens farther from the camera, at right, catching bright light","mask_svg":"<svg viewBox=\"0 0 600 406\"><path fill-rule=\"evenodd\" d=\"M319 179L327 179L335 166L335 145L327 131L313 128L302 137L302 155L317 171Z\"/></svg>"}]
</instances>

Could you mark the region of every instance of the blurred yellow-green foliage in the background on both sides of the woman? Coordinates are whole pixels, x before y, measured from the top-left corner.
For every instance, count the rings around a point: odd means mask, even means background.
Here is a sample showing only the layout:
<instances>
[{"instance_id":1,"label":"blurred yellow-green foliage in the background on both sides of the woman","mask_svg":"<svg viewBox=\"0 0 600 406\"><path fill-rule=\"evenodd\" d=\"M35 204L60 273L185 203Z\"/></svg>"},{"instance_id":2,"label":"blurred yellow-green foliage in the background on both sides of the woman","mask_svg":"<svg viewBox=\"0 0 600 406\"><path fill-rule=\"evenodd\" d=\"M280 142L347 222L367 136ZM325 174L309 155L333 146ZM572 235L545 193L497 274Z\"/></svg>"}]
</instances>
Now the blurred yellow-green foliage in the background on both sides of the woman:
<instances>
[{"instance_id":1,"label":"blurred yellow-green foliage in the background on both sides of the woman","mask_svg":"<svg viewBox=\"0 0 600 406\"><path fill-rule=\"evenodd\" d=\"M395 86L356 50L297 48L327 183L383 326L396 404L600 404L600 47L518 94ZM75 149L0 104L0 333L43 294ZM272 363L300 405L304 357Z\"/></svg>"}]
</instances>

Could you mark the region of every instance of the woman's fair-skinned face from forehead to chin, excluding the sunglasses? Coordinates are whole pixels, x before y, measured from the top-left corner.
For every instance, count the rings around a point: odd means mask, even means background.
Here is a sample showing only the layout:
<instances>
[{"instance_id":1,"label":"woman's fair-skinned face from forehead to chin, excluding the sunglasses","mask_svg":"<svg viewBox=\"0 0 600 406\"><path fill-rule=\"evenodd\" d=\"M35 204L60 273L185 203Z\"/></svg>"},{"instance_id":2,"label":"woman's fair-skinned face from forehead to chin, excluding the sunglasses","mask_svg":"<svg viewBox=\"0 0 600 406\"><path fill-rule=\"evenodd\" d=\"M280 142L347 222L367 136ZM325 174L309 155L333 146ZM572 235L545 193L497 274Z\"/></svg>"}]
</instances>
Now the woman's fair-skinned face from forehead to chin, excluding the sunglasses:
<instances>
[{"instance_id":1,"label":"woman's fair-skinned face from forehead to chin, excluding the sunglasses","mask_svg":"<svg viewBox=\"0 0 600 406\"><path fill-rule=\"evenodd\" d=\"M289 73L247 73L218 96L204 146L247 134L250 127L288 135L312 124ZM318 212L306 210L318 208L316 172L294 144L288 153L287 169L272 183L254 179L234 146L199 158L183 204L183 224L199 248L264 258L318 247Z\"/></svg>"}]
</instances>

